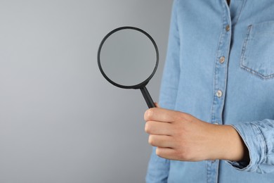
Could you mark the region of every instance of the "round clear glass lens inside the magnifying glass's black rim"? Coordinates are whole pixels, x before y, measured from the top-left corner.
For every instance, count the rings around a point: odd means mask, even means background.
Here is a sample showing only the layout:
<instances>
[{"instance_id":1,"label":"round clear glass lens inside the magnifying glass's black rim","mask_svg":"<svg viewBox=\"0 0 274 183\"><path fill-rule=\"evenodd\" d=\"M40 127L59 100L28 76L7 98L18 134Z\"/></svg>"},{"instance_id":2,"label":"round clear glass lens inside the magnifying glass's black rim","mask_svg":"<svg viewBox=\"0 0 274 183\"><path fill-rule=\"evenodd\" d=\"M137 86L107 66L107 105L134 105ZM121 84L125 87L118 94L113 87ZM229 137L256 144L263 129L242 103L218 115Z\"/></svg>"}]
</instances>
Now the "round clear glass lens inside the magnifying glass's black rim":
<instances>
[{"instance_id":1,"label":"round clear glass lens inside the magnifying glass's black rim","mask_svg":"<svg viewBox=\"0 0 274 183\"><path fill-rule=\"evenodd\" d=\"M132 86L150 77L157 62L155 46L145 34L125 29L105 39L100 64L113 82Z\"/></svg>"}]
</instances>

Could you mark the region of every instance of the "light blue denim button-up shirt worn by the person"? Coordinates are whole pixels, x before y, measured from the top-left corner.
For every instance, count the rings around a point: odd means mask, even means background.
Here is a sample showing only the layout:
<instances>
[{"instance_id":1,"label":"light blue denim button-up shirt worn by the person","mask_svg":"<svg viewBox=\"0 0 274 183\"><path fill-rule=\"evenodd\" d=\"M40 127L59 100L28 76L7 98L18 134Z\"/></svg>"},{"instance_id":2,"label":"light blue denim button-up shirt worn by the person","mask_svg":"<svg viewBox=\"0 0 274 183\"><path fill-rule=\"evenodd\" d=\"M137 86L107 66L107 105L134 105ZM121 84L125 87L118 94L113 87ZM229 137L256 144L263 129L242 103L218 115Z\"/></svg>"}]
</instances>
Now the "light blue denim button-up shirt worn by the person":
<instances>
[{"instance_id":1,"label":"light blue denim button-up shirt worn by the person","mask_svg":"<svg viewBox=\"0 0 274 183\"><path fill-rule=\"evenodd\" d=\"M274 182L274 1L175 0L159 104L232 125L249 162L155 155L147 182Z\"/></svg>"}]
</instances>

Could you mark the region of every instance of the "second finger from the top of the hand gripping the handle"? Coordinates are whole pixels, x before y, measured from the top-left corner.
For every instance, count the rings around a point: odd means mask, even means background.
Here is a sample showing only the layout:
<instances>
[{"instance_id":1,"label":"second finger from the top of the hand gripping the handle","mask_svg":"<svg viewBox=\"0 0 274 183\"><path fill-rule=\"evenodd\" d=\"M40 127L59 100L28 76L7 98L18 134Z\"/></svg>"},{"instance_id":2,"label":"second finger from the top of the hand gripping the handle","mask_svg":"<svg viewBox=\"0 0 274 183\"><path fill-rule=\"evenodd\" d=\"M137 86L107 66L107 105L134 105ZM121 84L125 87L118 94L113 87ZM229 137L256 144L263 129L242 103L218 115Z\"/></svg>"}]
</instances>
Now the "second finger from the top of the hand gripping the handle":
<instances>
[{"instance_id":1,"label":"second finger from the top of the hand gripping the handle","mask_svg":"<svg viewBox=\"0 0 274 183\"><path fill-rule=\"evenodd\" d=\"M173 131L168 122L148 121L145 123L145 132L148 134L171 135Z\"/></svg>"}]
</instances>

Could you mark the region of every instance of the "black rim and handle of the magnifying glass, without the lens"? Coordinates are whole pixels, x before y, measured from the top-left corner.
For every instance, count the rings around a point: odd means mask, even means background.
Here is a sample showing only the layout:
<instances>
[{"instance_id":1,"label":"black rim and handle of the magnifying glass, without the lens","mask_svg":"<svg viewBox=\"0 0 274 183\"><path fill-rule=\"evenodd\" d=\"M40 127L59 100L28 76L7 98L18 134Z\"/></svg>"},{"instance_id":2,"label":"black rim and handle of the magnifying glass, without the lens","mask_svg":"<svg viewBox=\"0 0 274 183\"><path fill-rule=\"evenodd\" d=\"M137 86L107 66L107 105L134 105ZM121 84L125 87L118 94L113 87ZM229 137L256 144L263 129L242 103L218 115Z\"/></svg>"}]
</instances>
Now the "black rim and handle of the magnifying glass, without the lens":
<instances>
[{"instance_id":1,"label":"black rim and handle of the magnifying glass, without the lens","mask_svg":"<svg viewBox=\"0 0 274 183\"><path fill-rule=\"evenodd\" d=\"M115 32L117 32L119 30L136 30L136 31L139 31L139 32L145 34L145 36L147 36L150 39L150 41L152 42L152 44L155 47L155 51L156 51L155 68L152 71L152 74L145 81L143 81L143 82L141 82L139 84L131 85L131 86L117 84L116 82L112 81L109 77L107 77L107 75L105 74L105 72L104 72L104 70L102 68L102 65L100 63L100 52L101 52L101 49L103 47L103 44L105 43L105 41L107 40L107 38L110 37L110 35L114 34ZM145 87L148 84L148 82L150 81L150 79L153 77L153 75L155 75L155 72L157 70L157 66L158 66L158 63L159 63L159 51L158 51L158 48L157 48L157 44L155 43L154 39L152 39L152 37L150 36L150 34L148 34L147 32L145 32L145 31L143 31L143 30L141 30L141 29L139 29L137 27L130 27L130 26L118 27L115 30L112 30L110 33L108 33L103 38L102 42L100 43L100 46L99 46L99 49L98 49L97 61L98 61L98 66L99 66L100 72L102 73L103 77L105 77L105 79L108 82L110 82L111 84L115 85L116 87L120 87L120 88L124 88L124 89L141 89L141 92L143 94L143 97L144 97L146 103L148 104L148 107L149 108L155 108L155 103L153 102L153 100L152 100L152 98L151 98L151 96L150 96L150 94L148 92L148 89Z\"/></svg>"}]
</instances>

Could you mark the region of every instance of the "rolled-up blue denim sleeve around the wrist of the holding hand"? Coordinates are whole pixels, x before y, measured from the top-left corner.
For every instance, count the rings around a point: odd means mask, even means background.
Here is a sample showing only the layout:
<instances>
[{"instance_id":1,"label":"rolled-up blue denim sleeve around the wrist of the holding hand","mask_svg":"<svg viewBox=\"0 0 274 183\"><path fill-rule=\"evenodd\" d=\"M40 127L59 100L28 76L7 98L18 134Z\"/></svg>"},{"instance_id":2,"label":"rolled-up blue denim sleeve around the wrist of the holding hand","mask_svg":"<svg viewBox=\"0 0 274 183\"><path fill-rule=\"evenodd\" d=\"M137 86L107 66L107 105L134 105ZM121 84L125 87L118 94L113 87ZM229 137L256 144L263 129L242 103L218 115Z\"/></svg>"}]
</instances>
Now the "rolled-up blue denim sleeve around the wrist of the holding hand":
<instances>
[{"instance_id":1,"label":"rolled-up blue denim sleeve around the wrist of the holding hand","mask_svg":"<svg viewBox=\"0 0 274 183\"><path fill-rule=\"evenodd\" d=\"M249 150L249 162L228 161L237 170L274 172L274 120L240 122L232 125Z\"/></svg>"}]
</instances>

